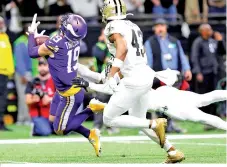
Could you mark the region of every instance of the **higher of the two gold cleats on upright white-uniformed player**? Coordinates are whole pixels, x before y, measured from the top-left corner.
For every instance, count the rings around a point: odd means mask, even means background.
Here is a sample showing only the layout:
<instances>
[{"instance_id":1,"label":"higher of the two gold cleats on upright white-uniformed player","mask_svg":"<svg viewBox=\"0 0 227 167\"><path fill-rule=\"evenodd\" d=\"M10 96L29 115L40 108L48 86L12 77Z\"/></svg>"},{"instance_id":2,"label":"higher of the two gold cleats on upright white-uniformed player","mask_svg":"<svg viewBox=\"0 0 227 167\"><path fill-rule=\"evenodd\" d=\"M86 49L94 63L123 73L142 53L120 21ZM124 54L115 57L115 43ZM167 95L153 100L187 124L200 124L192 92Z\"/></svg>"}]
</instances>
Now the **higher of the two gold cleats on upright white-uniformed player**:
<instances>
[{"instance_id":1,"label":"higher of the two gold cleats on upright white-uniformed player","mask_svg":"<svg viewBox=\"0 0 227 167\"><path fill-rule=\"evenodd\" d=\"M166 141L166 126L167 126L167 119L165 118L158 118L154 120L156 122L156 128L154 129L155 133L157 134L161 148L164 147Z\"/></svg>"}]
</instances>

